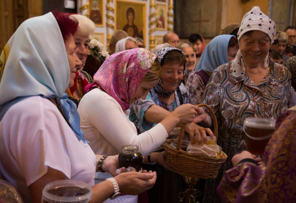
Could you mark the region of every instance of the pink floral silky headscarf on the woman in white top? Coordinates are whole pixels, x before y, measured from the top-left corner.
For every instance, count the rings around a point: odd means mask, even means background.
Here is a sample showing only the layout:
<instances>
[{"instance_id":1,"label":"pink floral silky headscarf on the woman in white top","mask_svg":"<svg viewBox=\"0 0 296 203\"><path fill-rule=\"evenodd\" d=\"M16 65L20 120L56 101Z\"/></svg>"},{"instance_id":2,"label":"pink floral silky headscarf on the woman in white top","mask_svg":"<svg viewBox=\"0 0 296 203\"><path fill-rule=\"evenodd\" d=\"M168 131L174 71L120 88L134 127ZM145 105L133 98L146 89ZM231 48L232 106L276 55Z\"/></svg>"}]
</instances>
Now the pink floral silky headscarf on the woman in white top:
<instances>
[{"instance_id":1,"label":"pink floral silky headscarf on the woman in white top","mask_svg":"<svg viewBox=\"0 0 296 203\"><path fill-rule=\"evenodd\" d=\"M121 51L109 56L94 74L86 91L99 87L112 96L123 110L129 108L139 84L157 56L144 48Z\"/></svg>"}]
</instances>

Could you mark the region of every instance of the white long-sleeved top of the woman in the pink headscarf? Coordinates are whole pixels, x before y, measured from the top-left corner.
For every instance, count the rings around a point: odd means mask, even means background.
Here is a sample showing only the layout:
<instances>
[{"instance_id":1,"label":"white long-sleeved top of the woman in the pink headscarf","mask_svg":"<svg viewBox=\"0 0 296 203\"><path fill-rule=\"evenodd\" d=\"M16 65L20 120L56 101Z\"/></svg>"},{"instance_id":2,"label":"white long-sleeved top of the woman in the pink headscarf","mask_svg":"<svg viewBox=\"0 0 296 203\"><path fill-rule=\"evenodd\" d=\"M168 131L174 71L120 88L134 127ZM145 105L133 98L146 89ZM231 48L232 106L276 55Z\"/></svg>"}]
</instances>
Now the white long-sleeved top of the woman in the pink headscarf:
<instances>
[{"instance_id":1,"label":"white long-sleeved top of the woman in the pink headscarf","mask_svg":"<svg viewBox=\"0 0 296 203\"><path fill-rule=\"evenodd\" d=\"M130 110L123 110L114 98L99 88L82 97L78 112L80 127L95 154L116 155L123 145L134 144L146 156L168 137L160 123L138 135L135 125L128 119Z\"/></svg>"}]
</instances>

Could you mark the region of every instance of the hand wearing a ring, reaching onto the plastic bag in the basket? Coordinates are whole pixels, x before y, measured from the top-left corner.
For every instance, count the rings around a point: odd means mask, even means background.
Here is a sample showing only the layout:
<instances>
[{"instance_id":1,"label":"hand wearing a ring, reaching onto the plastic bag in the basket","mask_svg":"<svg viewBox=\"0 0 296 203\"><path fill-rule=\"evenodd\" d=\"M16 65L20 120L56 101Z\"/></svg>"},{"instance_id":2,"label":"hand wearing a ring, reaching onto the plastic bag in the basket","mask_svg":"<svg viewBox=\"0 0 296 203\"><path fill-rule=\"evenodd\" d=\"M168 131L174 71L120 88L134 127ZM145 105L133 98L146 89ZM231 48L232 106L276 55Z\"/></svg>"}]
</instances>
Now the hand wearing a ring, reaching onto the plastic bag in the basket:
<instances>
[{"instance_id":1,"label":"hand wearing a ring, reaching onto the plastic bag in the basket","mask_svg":"<svg viewBox=\"0 0 296 203\"><path fill-rule=\"evenodd\" d=\"M204 141L204 143L207 143L207 134L210 135L212 139L215 139L214 133L210 128L201 127L193 122L186 125L185 131L190 135L192 145L194 145L195 143L194 135L196 135L197 143L199 145L202 144L202 140Z\"/></svg>"}]
</instances>

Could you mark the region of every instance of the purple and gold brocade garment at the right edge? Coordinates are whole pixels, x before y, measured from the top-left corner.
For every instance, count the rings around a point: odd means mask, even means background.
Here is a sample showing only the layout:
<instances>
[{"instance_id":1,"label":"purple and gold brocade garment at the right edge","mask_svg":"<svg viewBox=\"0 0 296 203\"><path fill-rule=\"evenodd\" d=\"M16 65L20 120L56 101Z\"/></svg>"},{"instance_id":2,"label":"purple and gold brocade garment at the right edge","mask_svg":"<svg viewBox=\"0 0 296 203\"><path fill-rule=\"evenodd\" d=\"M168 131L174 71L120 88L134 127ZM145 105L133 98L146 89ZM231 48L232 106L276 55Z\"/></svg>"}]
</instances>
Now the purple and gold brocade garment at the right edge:
<instances>
[{"instance_id":1,"label":"purple and gold brocade garment at the right edge","mask_svg":"<svg viewBox=\"0 0 296 203\"><path fill-rule=\"evenodd\" d=\"M296 107L282 113L264 153L265 163L243 162L225 172L218 192L226 202L296 202Z\"/></svg>"}]
</instances>

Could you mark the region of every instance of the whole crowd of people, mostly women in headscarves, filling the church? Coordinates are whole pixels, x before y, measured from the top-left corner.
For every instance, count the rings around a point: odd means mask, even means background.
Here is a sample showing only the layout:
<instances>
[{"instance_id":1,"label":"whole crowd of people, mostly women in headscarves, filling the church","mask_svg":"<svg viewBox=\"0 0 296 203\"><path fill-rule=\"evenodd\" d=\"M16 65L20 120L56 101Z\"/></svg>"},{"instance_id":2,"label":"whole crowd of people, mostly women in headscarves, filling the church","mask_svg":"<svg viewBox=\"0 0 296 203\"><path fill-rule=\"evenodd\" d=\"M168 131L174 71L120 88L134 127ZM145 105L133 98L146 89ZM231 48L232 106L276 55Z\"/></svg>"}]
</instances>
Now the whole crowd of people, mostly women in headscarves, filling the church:
<instances>
[{"instance_id":1,"label":"whole crowd of people, mostly women in headscarves, filling the church","mask_svg":"<svg viewBox=\"0 0 296 203\"><path fill-rule=\"evenodd\" d=\"M207 45L197 33L181 42L167 33L147 50L115 30L110 56L91 74L83 68L94 29L85 16L54 11L23 22L4 47L0 178L24 202L41 202L44 186L64 179L92 186L91 202L177 202L186 185L166 166L162 143L184 123L184 140L215 139L200 103L213 109L228 156L199 184L200 202L296 201L296 27L276 31L254 6ZM263 157L246 151L248 117L276 119ZM144 156L141 172L119 166L130 144Z\"/></svg>"}]
</instances>

